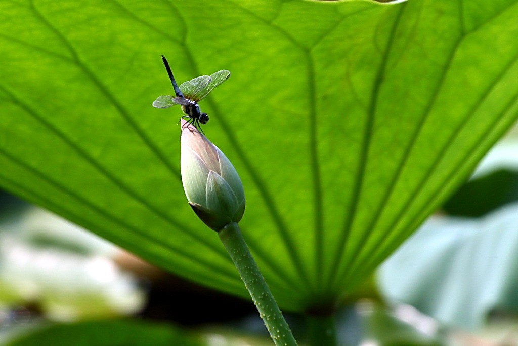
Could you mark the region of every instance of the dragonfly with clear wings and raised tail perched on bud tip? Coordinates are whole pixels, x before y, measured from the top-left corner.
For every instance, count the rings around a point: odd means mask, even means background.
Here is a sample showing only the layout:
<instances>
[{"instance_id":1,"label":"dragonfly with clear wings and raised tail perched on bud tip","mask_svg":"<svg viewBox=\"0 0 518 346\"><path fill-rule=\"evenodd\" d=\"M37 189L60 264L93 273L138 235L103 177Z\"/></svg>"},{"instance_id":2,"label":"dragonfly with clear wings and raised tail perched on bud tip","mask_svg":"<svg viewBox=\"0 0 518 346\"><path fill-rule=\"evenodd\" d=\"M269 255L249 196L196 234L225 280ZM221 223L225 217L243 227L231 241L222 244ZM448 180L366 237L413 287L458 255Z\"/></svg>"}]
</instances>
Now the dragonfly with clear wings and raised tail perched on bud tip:
<instances>
[{"instance_id":1,"label":"dragonfly with clear wings and raised tail perched on bud tip","mask_svg":"<svg viewBox=\"0 0 518 346\"><path fill-rule=\"evenodd\" d=\"M162 56L162 61L164 62L165 69L167 70L167 74L171 80L172 87L175 89L176 96L159 96L153 102L153 107L169 108L179 104L182 106L182 111L184 113L182 118L187 119L187 122L183 127L191 123L198 131L205 134L201 125L206 124L207 121L209 121L209 116L207 113L203 113L199 109L198 101L202 100L212 89L227 80L228 77L230 77L230 72L228 70L221 70L211 74L210 76L199 76L183 82L180 87L178 87L175 77L172 75L171 67L164 56Z\"/></svg>"}]
</instances>

